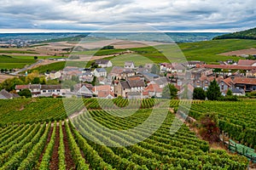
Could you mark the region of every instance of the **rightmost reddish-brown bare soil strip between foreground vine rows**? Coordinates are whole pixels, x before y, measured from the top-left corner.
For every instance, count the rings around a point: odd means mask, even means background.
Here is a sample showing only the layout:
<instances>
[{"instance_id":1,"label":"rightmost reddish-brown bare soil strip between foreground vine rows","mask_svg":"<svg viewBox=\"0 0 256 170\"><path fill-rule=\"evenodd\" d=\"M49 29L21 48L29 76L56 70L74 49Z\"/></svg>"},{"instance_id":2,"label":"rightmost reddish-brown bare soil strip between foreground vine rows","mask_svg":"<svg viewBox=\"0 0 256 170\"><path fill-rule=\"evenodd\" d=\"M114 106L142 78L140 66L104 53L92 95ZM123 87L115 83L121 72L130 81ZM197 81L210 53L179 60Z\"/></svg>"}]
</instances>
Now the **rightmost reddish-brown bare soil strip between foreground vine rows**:
<instances>
[{"instance_id":1,"label":"rightmost reddish-brown bare soil strip between foreground vine rows","mask_svg":"<svg viewBox=\"0 0 256 170\"><path fill-rule=\"evenodd\" d=\"M63 142L65 146L66 169L75 169L75 164L71 155L71 150L69 149L69 146L68 146L67 132L64 126L62 126L62 131L63 131Z\"/></svg>"}]
</instances>

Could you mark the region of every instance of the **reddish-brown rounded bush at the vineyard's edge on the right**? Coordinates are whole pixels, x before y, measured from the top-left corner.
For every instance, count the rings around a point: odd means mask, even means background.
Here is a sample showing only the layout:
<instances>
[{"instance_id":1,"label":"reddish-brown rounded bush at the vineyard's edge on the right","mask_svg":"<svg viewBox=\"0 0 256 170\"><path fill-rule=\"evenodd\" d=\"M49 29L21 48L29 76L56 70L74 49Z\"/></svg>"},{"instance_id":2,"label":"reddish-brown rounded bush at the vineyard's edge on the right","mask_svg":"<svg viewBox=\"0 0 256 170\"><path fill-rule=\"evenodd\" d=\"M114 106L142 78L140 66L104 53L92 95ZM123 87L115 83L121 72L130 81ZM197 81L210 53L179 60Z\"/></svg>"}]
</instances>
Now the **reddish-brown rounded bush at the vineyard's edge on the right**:
<instances>
[{"instance_id":1,"label":"reddish-brown rounded bush at the vineyard's edge on the right","mask_svg":"<svg viewBox=\"0 0 256 170\"><path fill-rule=\"evenodd\" d=\"M211 144L218 142L219 128L218 115L215 113L206 113L200 117L200 134Z\"/></svg>"}]
</instances>

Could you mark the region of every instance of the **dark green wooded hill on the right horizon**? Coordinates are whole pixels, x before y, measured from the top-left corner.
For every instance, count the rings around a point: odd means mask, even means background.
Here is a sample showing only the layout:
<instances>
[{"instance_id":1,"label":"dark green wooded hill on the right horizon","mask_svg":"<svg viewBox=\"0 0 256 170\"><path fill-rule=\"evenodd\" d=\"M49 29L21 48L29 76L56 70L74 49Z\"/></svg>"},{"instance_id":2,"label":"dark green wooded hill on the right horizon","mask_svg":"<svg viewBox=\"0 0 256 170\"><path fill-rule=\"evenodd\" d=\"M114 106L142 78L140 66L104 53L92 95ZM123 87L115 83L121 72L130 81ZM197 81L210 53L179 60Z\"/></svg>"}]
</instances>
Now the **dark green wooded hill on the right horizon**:
<instances>
[{"instance_id":1,"label":"dark green wooded hill on the right horizon","mask_svg":"<svg viewBox=\"0 0 256 170\"><path fill-rule=\"evenodd\" d=\"M222 36L213 37L213 40L217 39L256 39L256 28L246 30L246 31L237 31L230 34L224 34Z\"/></svg>"}]
</instances>

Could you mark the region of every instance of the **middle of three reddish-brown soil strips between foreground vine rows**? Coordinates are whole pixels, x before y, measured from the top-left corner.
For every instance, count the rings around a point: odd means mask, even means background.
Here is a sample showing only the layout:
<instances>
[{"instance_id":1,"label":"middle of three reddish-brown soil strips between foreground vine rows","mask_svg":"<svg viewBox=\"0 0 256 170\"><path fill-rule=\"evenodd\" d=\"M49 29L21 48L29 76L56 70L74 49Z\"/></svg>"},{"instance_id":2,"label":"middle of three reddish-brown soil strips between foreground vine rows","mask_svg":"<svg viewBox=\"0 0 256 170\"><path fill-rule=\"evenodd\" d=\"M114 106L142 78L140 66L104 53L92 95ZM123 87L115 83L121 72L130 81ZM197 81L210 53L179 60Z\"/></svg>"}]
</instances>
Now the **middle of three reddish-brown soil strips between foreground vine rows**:
<instances>
[{"instance_id":1,"label":"middle of three reddish-brown soil strips between foreground vine rows","mask_svg":"<svg viewBox=\"0 0 256 170\"><path fill-rule=\"evenodd\" d=\"M55 146L52 152L51 160L49 161L49 169L58 170L59 169L59 145L60 145L60 126L56 127L56 138L55 138Z\"/></svg>"}]
</instances>

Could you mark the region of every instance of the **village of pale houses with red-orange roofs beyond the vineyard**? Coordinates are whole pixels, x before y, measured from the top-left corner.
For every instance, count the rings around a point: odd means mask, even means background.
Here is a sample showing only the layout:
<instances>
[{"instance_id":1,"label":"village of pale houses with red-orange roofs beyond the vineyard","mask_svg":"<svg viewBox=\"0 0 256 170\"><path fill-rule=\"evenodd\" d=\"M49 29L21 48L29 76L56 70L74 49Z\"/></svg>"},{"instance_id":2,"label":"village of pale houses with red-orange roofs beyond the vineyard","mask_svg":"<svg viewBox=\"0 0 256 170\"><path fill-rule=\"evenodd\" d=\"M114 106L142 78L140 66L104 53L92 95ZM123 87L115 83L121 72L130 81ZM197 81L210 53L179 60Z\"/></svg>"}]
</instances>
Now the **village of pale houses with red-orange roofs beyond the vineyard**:
<instances>
[{"instance_id":1,"label":"village of pale houses with red-orange roofs beyond the vineyard","mask_svg":"<svg viewBox=\"0 0 256 170\"><path fill-rule=\"evenodd\" d=\"M113 99L162 98L163 89L172 84L178 94L183 93L184 86L193 93L194 88L207 91L210 82L216 80L221 94L225 96L230 90L233 95L244 96L256 90L256 60L239 59L238 62L228 60L220 65L206 65L202 61L186 63L161 63L159 65L135 65L133 61L125 61L124 66L113 66L111 60L96 59L95 68L79 68L67 66L61 71L45 72L46 80L58 80L57 85L26 84L16 85L19 93L29 89L32 97L83 97ZM109 70L110 68L111 70ZM109 72L107 71L109 70ZM72 80L72 85L66 82ZM18 97L4 89L1 99Z\"/></svg>"}]
</instances>

